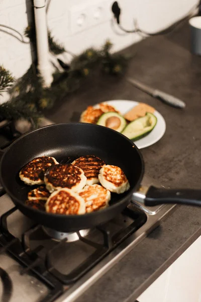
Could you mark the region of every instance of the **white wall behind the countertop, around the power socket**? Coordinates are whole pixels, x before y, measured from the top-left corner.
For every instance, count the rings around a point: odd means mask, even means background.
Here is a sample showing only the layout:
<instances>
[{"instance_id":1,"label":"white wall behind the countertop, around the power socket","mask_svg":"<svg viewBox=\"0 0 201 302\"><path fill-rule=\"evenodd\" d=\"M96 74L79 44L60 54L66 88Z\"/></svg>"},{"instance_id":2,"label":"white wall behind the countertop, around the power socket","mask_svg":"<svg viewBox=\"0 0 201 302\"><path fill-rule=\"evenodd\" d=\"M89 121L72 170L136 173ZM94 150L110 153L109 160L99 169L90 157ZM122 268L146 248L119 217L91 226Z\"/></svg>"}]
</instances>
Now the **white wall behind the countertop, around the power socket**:
<instances>
[{"instance_id":1,"label":"white wall behind the countertop, around the power socket","mask_svg":"<svg viewBox=\"0 0 201 302\"><path fill-rule=\"evenodd\" d=\"M105 21L73 35L72 10L90 4L94 7L99 3L104 3L108 14ZM114 51L123 49L133 44L139 37L136 34L122 34L117 28L114 30L111 26L112 3L111 0L52 0L48 12L49 28L55 38L75 54L89 46L98 47L106 39L114 43ZM121 22L125 28L132 28L133 20L137 19L142 29L154 32L185 15L197 0L119 0L118 3L122 9ZM14 27L23 33L28 25L27 12L30 10L31 0L0 0L0 24ZM16 78L19 78L31 64L30 45L22 44L1 30L9 32L0 27L0 64L4 64Z\"/></svg>"}]
</instances>

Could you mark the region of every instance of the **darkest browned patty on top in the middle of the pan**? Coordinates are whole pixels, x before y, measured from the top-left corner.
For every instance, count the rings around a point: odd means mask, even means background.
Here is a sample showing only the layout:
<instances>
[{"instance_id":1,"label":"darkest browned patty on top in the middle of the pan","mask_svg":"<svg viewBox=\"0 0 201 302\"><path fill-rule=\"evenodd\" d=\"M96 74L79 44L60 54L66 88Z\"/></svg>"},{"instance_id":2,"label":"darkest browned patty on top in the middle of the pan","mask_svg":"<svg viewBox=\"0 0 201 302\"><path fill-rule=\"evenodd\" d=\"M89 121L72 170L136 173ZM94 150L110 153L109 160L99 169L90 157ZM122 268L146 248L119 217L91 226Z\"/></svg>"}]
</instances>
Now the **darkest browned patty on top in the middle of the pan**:
<instances>
[{"instance_id":1,"label":"darkest browned patty on top in the middle of the pan","mask_svg":"<svg viewBox=\"0 0 201 302\"><path fill-rule=\"evenodd\" d=\"M77 192L86 184L83 170L72 164L53 166L46 171L44 180L49 192L61 188L68 188Z\"/></svg>"}]
</instances>

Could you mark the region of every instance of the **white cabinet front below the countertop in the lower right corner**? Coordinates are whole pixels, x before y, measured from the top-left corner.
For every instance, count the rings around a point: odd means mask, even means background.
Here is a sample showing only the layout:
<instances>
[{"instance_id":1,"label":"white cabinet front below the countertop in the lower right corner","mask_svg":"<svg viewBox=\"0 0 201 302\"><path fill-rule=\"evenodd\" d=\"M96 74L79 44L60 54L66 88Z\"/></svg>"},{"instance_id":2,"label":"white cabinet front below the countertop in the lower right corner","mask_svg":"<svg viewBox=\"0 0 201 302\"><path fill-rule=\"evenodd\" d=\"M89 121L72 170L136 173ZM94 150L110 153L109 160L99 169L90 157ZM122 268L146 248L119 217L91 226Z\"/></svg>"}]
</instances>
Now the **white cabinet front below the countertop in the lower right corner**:
<instances>
[{"instance_id":1,"label":"white cabinet front below the countertop in the lower right corner","mask_svg":"<svg viewBox=\"0 0 201 302\"><path fill-rule=\"evenodd\" d=\"M201 302L201 237L145 292L139 302Z\"/></svg>"}]
</instances>

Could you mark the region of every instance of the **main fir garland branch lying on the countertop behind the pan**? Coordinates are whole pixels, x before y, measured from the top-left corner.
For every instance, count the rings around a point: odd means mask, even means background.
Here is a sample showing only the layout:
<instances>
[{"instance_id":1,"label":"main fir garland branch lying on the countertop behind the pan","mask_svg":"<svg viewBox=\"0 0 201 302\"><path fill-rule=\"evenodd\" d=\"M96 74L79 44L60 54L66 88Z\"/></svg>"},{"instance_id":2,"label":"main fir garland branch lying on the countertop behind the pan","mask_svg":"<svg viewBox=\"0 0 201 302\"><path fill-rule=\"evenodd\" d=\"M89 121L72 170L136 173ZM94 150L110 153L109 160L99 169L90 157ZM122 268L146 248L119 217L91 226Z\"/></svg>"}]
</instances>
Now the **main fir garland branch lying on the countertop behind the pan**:
<instances>
[{"instance_id":1,"label":"main fir garland branch lying on the countertop behind the pan","mask_svg":"<svg viewBox=\"0 0 201 302\"><path fill-rule=\"evenodd\" d=\"M81 86L85 78L100 69L112 75L124 74L127 59L122 55L110 53L112 44L107 41L102 49L89 48L73 58L70 68L53 74L54 81L50 88L43 88L43 79L37 74L33 64L11 91L12 102L26 105L33 113L51 108L56 99L63 98Z\"/></svg>"}]
</instances>

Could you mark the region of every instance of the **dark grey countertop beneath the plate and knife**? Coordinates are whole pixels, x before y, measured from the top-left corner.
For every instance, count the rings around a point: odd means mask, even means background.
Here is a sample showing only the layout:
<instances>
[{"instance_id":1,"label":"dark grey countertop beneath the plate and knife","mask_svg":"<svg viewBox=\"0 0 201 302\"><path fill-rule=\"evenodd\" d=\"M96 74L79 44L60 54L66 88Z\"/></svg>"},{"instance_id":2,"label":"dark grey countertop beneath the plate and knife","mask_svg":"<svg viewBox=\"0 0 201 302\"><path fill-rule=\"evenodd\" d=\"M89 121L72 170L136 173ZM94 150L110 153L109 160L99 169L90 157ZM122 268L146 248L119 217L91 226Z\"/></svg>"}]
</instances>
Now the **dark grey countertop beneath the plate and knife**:
<instances>
[{"instance_id":1,"label":"dark grey countertop beneath the plate and knife","mask_svg":"<svg viewBox=\"0 0 201 302\"><path fill-rule=\"evenodd\" d=\"M174 109L137 90L125 79L94 77L79 92L58 101L46 115L54 122L76 121L87 105L112 99L154 106L165 118L160 141L142 150L146 174L168 187L200 188L201 58L189 52L187 26L151 37L124 50L137 53L127 75L182 99ZM147 238L85 291L77 302L134 302L201 235L201 208L179 206Z\"/></svg>"}]
</instances>

